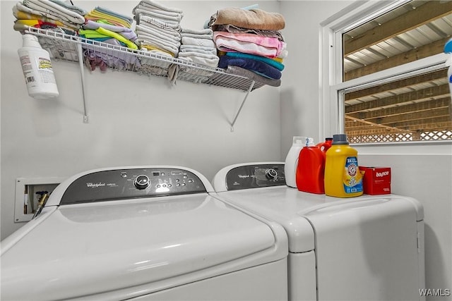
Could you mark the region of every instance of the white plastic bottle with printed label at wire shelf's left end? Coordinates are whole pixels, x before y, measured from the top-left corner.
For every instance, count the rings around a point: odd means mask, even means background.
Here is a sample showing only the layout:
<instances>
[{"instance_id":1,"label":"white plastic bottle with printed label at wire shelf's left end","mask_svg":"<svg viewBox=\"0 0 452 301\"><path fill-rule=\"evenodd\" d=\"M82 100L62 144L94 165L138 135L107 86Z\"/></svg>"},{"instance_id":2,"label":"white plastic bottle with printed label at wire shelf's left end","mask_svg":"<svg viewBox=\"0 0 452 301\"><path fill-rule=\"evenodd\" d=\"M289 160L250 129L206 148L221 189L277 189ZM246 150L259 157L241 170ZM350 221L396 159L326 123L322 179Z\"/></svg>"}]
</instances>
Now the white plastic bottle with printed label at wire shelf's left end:
<instances>
[{"instance_id":1,"label":"white plastic bottle with printed label at wire shelf's left end","mask_svg":"<svg viewBox=\"0 0 452 301\"><path fill-rule=\"evenodd\" d=\"M22 36L23 47L18 50L28 95L36 99L58 97L58 87L49 52L42 49L35 35Z\"/></svg>"}]
</instances>

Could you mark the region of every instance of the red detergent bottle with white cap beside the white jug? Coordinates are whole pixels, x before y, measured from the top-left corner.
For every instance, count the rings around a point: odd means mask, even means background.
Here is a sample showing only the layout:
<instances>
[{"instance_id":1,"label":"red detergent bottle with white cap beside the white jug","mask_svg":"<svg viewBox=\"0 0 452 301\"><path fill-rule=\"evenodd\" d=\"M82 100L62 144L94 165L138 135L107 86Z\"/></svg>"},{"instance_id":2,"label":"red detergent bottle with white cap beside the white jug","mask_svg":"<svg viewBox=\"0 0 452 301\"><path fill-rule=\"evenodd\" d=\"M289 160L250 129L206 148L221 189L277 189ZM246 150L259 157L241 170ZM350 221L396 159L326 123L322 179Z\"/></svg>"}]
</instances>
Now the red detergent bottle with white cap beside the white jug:
<instances>
[{"instance_id":1,"label":"red detergent bottle with white cap beside the white jug","mask_svg":"<svg viewBox=\"0 0 452 301\"><path fill-rule=\"evenodd\" d=\"M297 188L300 191L317 194L325 193L323 175L325 171L325 153L308 138L307 145L299 153L297 167Z\"/></svg>"}]
</instances>

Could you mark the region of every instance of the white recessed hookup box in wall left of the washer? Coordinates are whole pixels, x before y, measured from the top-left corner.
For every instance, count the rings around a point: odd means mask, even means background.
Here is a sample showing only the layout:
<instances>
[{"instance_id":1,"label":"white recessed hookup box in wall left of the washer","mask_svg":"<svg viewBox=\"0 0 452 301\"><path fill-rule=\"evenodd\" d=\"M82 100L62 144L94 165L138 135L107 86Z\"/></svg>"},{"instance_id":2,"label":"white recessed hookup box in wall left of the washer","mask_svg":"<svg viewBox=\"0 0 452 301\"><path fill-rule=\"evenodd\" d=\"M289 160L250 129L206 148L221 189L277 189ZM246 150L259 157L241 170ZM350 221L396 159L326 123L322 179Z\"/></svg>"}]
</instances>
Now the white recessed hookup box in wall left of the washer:
<instances>
[{"instance_id":1,"label":"white recessed hookup box in wall left of the washer","mask_svg":"<svg viewBox=\"0 0 452 301\"><path fill-rule=\"evenodd\" d=\"M14 222L30 221L42 192L52 193L65 178L17 178Z\"/></svg>"}]
</instances>

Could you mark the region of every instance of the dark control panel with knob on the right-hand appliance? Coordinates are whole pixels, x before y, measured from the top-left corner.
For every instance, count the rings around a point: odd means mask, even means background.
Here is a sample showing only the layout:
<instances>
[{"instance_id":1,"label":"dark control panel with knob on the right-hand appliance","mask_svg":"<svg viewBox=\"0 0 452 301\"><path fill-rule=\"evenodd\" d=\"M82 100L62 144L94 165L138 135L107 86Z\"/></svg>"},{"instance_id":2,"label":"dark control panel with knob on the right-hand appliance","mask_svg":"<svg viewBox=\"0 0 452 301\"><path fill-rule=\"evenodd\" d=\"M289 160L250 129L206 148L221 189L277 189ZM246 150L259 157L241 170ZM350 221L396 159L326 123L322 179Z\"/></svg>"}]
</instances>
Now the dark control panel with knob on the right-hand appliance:
<instances>
[{"instance_id":1,"label":"dark control panel with knob on the right-hand appliance","mask_svg":"<svg viewBox=\"0 0 452 301\"><path fill-rule=\"evenodd\" d=\"M232 168L226 174L227 190L285 185L284 164L254 164Z\"/></svg>"}]
</instances>

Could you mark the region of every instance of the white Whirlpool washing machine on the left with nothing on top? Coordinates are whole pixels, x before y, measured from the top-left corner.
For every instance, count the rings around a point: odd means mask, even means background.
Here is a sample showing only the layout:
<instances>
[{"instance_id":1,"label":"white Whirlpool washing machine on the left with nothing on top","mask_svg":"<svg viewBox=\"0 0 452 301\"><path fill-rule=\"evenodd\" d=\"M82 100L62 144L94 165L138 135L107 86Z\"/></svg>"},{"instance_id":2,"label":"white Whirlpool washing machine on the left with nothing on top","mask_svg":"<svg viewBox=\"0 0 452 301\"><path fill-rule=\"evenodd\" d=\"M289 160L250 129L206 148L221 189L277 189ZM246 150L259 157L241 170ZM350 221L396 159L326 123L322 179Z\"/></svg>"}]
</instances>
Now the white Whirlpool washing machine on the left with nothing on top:
<instances>
[{"instance_id":1,"label":"white Whirlpool washing machine on the left with nothing on top","mask_svg":"<svg viewBox=\"0 0 452 301\"><path fill-rule=\"evenodd\" d=\"M178 166L104 168L55 188L1 243L1 300L287 300L287 235Z\"/></svg>"}]
</instances>

